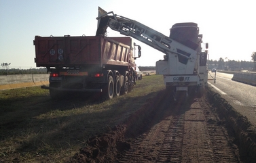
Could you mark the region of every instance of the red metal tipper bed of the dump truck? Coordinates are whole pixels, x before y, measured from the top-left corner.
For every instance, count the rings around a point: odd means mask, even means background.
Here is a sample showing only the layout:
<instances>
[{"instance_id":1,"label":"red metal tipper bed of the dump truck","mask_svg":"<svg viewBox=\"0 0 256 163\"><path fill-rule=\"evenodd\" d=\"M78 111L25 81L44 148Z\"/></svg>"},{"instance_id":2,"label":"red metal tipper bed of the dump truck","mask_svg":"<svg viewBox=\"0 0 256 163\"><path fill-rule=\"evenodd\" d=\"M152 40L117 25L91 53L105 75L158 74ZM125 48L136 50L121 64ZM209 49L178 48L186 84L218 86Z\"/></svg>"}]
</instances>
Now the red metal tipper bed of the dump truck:
<instances>
[{"instance_id":1,"label":"red metal tipper bed of the dump truck","mask_svg":"<svg viewBox=\"0 0 256 163\"><path fill-rule=\"evenodd\" d=\"M36 36L34 45L37 67L128 66L132 62L130 37Z\"/></svg>"}]
</instances>

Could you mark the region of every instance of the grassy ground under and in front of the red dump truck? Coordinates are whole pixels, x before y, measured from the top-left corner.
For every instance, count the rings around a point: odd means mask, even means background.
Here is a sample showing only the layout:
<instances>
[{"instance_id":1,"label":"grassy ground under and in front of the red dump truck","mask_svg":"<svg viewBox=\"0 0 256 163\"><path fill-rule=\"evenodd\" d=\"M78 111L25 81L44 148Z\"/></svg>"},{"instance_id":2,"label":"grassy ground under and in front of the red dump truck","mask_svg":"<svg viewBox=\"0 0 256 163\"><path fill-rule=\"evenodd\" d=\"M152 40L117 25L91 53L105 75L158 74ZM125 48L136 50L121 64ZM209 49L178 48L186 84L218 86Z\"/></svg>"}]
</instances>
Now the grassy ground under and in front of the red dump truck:
<instances>
[{"instance_id":1,"label":"grassy ground under and in front of the red dump truck","mask_svg":"<svg viewBox=\"0 0 256 163\"><path fill-rule=\"evenodd\" d=\"M52 100L40 87L0 91L0 162L66 162L162 89L162 76L151 75L127 95L101 102L73 94Z\"/></svg>"}]
</instances>

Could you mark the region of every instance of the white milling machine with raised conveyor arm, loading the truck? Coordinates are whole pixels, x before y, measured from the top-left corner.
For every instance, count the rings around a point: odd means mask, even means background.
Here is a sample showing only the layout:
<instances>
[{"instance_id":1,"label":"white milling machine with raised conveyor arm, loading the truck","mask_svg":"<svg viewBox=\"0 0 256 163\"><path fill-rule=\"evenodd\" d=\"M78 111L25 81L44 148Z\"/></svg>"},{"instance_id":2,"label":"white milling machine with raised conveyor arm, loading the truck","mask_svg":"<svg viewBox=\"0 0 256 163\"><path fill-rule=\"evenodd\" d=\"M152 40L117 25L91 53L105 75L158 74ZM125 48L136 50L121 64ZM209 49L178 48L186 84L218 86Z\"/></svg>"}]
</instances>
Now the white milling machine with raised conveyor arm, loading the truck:
<instances>
[{"instance_id":1,"label":"white milling machine with raised conveyor arm, loading the truck","mask_svg":"<svg viewBox=\"0 0 256 163\"><path fill-rule=\"evenodd\" d=\"M156 74L164 75L166 89L175 99L191 94L207 85L208 51L202 51L202 34L198 24L192 22L177 23L170 29L170 37L145 26L135 20L107 12L98 7L98 29L96 35L105 34L107 27L121 34L133 37L159 51L164 60L156 62Z\"/></svg>"}]
</instances>

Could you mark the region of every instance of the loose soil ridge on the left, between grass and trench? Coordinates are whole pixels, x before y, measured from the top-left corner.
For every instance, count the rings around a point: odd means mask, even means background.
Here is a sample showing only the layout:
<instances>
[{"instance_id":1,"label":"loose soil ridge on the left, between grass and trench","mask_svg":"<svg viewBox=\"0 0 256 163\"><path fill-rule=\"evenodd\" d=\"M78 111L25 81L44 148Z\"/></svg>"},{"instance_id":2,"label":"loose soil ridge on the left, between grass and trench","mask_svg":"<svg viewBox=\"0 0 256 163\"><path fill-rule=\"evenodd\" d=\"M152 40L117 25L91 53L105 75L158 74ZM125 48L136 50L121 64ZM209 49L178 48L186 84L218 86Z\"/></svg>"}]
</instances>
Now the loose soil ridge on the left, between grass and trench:
<instances>
[{"instance_id":1,"label":"loose soil ridge on the left, between grass and trench","mask_svg":"<svg viewBox=\"0 0 256 163\"><path fill-rule=\"evenodd\" d=\"M114 162L118 153L130 149L130 143L126 138L136 137L147 127L147 122L153 116L154 108L165 97L166 91L160 91L154 99L137 110L120 126L109 129L109 133L92 137L86 142L87 146L80 149L78 154L71 158L71 162Z\"/></svg>"}]
</instances>

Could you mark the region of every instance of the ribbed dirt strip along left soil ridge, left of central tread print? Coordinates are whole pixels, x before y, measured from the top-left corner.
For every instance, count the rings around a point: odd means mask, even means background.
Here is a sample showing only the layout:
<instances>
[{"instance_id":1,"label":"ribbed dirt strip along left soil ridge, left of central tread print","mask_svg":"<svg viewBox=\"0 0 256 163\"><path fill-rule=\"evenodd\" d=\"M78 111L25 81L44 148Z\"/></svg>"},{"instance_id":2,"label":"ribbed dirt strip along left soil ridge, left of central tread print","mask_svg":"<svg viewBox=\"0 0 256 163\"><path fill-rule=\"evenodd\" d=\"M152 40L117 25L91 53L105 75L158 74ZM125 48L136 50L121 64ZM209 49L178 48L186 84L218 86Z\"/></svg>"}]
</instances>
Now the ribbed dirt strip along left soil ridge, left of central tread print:
<instances>
[{"instance_id":1,"label":"ribbed dirt strip along left soil ridge, left of central tread print","mask_svg":"<svg viewBox=\"0 0 256 163\"><path fill-rule=\"evenodd\" d=\"M131 148L125 154L122 154L118 162L154 162L158 159L158 153L162 150L162 144L170 123L173 121L169 110L163 109L168 106L168 103L163 103L166 98L153 107L153 116L147 120L146 132L138 135L136 139L131 142Z\"/></svg>"}]
</instances>

